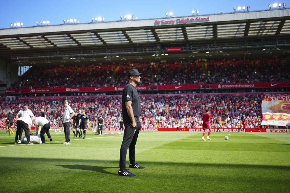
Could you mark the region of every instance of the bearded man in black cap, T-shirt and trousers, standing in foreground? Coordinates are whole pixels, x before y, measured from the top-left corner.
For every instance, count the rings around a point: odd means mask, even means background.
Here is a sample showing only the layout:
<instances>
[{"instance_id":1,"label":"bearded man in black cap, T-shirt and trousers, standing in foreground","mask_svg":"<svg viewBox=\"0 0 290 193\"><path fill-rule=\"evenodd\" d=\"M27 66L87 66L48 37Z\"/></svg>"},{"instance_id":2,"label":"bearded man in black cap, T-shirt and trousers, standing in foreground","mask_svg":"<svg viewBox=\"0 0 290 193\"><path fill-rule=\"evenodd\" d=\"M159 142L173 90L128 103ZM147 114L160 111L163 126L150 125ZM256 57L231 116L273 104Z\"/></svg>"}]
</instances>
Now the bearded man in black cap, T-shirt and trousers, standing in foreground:
<instances>
[{"instance_id":1,"label":"bearded man in black cap, T-shirt and trousers, standing in foreground","mask_svg":"<svg viewBox=\"0 0 290 193\"><path fill-rule=\"evenodd\" d=\"M140 75L142 74L137 69L131 69L127 75L129 83L125 86L122 93L122 114L125 130L120 149L120 169L118 171L118 175L120 176L136 176L126 169L128 148L130 158L129 167L138 169L145 168L135 162L135 145L141 129L141 122L139 121L141 113L140 97L136 90L136 85L140 83Z\"/></svg>"}]
</instances>

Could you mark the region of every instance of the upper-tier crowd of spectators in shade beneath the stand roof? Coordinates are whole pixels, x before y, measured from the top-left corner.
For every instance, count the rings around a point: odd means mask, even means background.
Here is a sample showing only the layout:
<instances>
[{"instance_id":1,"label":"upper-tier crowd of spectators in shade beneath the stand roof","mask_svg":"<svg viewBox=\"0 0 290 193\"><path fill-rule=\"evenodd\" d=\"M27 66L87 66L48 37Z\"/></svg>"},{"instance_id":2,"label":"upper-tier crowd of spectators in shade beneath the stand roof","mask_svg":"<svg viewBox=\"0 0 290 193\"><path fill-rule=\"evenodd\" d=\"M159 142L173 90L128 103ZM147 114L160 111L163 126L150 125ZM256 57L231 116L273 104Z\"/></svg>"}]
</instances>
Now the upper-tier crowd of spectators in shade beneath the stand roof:
<instances>
[{"instance_id":1,"label":"upper-tier crowd of spectators in shade beneath the stand roof","mask_svg":"<svg viewBox=\"0 0 290 193\"><path fill-rule=\"evenodd\" d=\"M144 72L140 85L289 82L290 58L33 66L14 89L124 86L129 69ZM155 76L156 75L156 76Z\"/></svg>"}]
</instances>

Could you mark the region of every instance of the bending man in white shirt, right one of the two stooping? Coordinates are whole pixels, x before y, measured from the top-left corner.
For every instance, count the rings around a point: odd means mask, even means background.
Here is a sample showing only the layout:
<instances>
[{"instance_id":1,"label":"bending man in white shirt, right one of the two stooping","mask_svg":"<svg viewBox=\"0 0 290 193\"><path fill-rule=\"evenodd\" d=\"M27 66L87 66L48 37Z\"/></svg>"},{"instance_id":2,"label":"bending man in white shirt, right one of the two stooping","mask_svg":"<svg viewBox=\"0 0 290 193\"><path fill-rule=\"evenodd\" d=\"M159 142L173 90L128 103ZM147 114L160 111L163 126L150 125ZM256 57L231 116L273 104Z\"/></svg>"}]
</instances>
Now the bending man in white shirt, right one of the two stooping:
<instances>
[{"instance_id":1,"label":"bending man in white shirt, right one of the two stooping","mask_svg":"<svg viewBox=\"0 0 290 193\"><path fill-rule=\"evenodd\" d=\"M44 134L50 128L49 121L44 117L32 117L32 121L34 122L35 125L36 135L40 134L42 144L46 144Z\"/></svg>"}]
</instances>

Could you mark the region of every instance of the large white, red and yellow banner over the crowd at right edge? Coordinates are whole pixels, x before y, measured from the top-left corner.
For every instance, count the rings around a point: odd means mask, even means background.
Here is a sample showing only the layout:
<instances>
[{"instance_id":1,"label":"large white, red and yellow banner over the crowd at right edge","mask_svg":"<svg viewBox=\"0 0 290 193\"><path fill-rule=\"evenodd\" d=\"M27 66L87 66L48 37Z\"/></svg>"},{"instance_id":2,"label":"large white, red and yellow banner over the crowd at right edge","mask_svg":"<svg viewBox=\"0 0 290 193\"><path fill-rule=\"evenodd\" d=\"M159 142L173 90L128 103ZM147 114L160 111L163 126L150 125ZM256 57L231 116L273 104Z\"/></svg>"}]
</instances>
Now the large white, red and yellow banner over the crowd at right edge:
<instances>
[{"instance_id":1,"label":"large white, red and yellow banner over the crowd at right edge","mask_svg":"<svg viewBox=\"0 0 290 193\"><path fill-rule=\"evenodd\" d=\"M265 95L261 125L290 126L290 94Z\"/></svg>"}]
</instances>

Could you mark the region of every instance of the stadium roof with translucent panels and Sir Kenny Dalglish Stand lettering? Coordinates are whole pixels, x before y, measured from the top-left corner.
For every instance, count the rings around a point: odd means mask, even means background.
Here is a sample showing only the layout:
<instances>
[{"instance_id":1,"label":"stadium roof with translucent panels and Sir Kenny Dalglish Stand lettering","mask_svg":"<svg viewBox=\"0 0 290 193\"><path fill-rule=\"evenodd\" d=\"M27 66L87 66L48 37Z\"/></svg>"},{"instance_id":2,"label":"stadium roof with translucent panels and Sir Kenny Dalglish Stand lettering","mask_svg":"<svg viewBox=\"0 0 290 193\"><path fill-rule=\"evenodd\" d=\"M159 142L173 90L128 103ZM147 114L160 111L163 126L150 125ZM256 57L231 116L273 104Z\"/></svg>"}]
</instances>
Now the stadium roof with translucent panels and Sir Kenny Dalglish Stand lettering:
<instances>
[{"instance_id":1,"label":"stadium roof with translucent panels and Sir Kenny Dalglish Stand lettering","mask_svg":"<svg viewBox=\"0 0 290 193\"><path fill-rule=\"evenodd\" d=\"M0 57L15 63L261 55L289 46L290 9L284 8L0 30Z\"/></svg>"}]
</instances>

